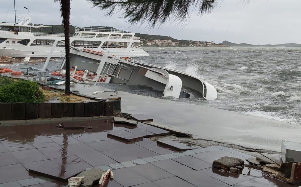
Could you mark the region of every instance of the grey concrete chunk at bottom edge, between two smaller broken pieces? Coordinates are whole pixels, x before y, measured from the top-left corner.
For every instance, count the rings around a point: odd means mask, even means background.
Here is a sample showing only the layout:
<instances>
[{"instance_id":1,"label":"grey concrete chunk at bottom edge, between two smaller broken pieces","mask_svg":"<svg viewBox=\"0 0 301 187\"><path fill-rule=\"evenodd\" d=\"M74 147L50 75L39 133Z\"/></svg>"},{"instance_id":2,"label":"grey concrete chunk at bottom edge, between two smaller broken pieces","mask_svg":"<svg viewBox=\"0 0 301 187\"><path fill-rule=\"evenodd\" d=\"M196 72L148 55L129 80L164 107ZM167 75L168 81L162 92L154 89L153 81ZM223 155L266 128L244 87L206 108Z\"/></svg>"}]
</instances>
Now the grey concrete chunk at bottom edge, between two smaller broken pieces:
<instances>
[{"instance_id":1,"label":"grey concrete chunk at bottom edge, between two smaller broken pieces","mask_svg":"<svg viewBox=\"0 0 301 187\"><path fill-rule=\"evenodd\" d=\"M85 170L79 173L77 176L84 176L81 187L89 187L97 183L103 173L103 170L98 167L93 167L90 170Z\"/></svg>"}]
</instances>

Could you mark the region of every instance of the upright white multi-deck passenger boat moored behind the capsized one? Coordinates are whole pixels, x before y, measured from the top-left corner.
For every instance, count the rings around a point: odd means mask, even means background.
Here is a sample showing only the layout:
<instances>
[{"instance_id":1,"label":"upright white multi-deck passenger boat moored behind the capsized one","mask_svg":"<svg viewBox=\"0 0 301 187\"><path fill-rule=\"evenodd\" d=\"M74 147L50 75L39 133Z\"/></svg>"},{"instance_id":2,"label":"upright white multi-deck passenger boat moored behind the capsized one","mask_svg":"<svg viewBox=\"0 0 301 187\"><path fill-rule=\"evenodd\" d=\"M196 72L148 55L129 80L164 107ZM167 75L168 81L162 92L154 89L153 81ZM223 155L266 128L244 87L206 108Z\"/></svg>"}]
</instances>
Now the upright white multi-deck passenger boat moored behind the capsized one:
<instances>
[{"instance_id":1,"label":"upright white multi-deck passenger boat moored behind the capsized one","mask_svg":"<svg viewBox=\"0 0 301 187\"><path fill-rule=\"evenodd\" d=\"M15 28L19 28L17 34ZM51 29L51 32L46 32L46 29ZM134 35L133 29L76 27L75 33L70 34L70 45L117 57L149 56L147 51L139 48L140 38ZM57 42L51 57L61 57L65 51L64 42L61 42L64 40L63 33L52 33L52 27L34 25L29 17L20 23L0 23L0 56L48 57L51 46Z\"/></svg>"}]
</instances>

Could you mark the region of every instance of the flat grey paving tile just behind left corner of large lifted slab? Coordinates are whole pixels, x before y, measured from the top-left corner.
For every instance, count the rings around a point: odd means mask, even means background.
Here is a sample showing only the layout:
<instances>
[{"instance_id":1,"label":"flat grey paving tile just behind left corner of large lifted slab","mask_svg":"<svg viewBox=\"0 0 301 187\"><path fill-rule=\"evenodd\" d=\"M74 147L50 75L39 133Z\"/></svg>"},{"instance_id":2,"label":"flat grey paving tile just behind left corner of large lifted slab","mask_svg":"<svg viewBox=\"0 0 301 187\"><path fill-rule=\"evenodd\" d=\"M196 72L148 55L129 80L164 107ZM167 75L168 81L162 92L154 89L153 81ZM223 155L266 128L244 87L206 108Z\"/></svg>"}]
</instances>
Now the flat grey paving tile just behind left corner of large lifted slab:
<instances>
[{"instance_id":1,"label":"flat grey paving tile just behind left corner of large lifted slab","mask_svg":"<svg viewBox=\"0 0 301 187\"><path fill-rule=\"evenodd\" d=\"M11 152L20 163L48 160L38 149Z\"/></svg>"}]
</instances>

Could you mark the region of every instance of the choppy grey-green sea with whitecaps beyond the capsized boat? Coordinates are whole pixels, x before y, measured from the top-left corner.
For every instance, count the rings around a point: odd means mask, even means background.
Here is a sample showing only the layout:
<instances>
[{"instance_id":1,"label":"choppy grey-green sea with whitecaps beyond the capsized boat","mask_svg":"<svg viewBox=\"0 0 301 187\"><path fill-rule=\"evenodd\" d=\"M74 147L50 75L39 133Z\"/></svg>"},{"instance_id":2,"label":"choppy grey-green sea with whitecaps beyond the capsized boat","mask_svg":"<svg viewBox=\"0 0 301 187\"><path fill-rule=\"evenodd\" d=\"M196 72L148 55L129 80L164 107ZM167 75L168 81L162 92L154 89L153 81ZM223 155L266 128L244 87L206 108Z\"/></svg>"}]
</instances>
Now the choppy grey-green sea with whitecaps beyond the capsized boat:
<instances>
[{"instance_id":1,"label":"choppy grey-green sea with whitecaps beyond the capsized boat","mask_svg":"<svg viewBox=\"0 0 301 187\"><path fill-rule=\"evenodd\" d=\"M301 124L301 48L145 49L150 56L137 60L189 73L227 92L218 93L214 101L180 102ZM126 89L160 97L143 87Z\"/></svg>"}]
</instances>

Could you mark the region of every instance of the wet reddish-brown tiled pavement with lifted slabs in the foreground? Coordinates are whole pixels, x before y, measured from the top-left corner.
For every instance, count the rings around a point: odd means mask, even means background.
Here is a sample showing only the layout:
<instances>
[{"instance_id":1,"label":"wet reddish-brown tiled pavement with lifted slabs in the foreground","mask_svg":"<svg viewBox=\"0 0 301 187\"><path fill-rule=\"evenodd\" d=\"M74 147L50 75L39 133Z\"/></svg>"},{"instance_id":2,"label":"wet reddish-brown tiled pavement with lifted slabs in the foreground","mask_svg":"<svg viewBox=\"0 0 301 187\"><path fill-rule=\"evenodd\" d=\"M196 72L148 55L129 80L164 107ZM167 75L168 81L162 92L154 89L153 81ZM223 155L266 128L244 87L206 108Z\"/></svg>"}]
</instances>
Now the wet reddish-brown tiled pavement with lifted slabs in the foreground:
<instances>
[{"instance_id":1,"label":"wet reddish-brown tiled pavement with lifted slabs in the foreground","mask_svg":"<svg viewBox=\"0 0 301 187\"><path fill-rule=\"evenodd\" d=\"M113 169L108 187L298 186L248 167L241 175L212 167L223 156L245 160L250 157L245 153L222 146L177 152L170 147L178 143L160 145L141 134L156 136L156 127L114 125L111 120L63 122L85 127L77 130L56 127L58 123L0 127L0 187L63 187L69 177L92 167ZM125 132L142 138L123 141L108 136Z\"/></svg>"}]
</instances>

